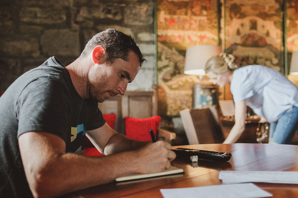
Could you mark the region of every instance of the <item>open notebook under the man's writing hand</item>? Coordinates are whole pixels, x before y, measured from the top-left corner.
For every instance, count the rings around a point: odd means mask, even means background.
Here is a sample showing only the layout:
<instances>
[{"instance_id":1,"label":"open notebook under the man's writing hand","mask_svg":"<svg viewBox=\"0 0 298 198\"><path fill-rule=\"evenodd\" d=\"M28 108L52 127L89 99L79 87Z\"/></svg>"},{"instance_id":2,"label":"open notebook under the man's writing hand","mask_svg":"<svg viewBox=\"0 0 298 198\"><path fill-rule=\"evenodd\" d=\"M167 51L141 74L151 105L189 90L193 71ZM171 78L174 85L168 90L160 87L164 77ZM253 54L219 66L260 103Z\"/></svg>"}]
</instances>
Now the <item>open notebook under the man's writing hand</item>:
<instances>
[{"instance_id":1,"label":"open notebook under the man's writing hand","mask_svg":"<svg viewBox=\"0 0 298 198\"><path fill-rule=\"evenodd\" d=\"M118 177L116 181L122 182L122 181L128 181L128 180L139 180L139 179L144 179L148 177L156 177L156 176L177 174L177 173L183 173L183 172L184 172L183 169L171 166L170 168L165 169L164 171L161 171L161 172L150 173L150 174L133 173L133 174L121 176L121 177Z\"/></svg>"}]
</instances>

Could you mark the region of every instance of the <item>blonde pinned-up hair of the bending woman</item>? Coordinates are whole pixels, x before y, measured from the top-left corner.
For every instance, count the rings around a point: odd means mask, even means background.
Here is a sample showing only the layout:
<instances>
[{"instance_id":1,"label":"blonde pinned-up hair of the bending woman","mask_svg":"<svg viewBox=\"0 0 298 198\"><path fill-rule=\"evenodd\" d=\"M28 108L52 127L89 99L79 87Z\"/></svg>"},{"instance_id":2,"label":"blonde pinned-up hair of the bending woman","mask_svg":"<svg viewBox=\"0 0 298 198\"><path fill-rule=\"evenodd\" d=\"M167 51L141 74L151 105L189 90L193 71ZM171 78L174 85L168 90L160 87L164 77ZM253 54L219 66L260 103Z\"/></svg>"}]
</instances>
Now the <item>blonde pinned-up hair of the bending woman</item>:
<instances>
[{"instance_id":1,"label":"blonde pinned-up hair of the bending woman","mask_svg":"<svg viewBox=\"0 0 298 198\"><path fill-rule=\"evenodd\" d=\"M235 70L238 66L234 64L234 60L235 57L232 54L220 53L207 61L205 71L206 73L212 71L215 74L222 74L228 70Z\"/></svg>"}]
</instances>

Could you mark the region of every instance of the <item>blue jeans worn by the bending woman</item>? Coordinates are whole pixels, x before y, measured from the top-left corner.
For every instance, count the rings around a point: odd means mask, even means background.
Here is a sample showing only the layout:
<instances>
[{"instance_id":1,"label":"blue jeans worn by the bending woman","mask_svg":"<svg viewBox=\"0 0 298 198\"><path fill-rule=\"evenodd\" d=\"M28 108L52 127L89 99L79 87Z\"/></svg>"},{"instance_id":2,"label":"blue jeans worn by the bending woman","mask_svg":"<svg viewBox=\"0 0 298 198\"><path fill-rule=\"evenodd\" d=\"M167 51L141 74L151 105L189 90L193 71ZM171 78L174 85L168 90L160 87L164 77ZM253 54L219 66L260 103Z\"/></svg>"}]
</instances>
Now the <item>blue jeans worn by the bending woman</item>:
<instances>
[{"instance_id":1,"label":"blue jeans worn by the bending woman","mask_svg":"<svg viewBox=\"0 0 298 198\"><path fill-rule=\"evenodd\" d=\"M285 112L277 123L270 123L269 142L273 144L291 144L298 129L298 107Z\"/></svg>"}]
</instances>

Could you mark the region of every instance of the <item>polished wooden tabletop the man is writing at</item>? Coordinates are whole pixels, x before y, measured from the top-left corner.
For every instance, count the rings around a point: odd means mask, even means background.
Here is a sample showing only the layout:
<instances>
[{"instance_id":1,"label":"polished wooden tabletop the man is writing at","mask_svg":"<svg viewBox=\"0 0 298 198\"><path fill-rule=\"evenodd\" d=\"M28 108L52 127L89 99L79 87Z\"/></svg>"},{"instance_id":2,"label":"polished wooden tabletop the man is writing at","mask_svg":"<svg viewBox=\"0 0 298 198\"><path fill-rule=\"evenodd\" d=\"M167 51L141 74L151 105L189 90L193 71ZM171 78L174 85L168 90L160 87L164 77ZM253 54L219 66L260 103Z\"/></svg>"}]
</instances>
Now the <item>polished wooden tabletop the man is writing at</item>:
<instances>
[{"instance_id":1,"label":"polished wooden tabletop the man is writing at","mask_svg":"<svg viewBox=\"0 0 298 198\"><path fill-rule=\"evenodd\" d=\"M185 174L168 175L147 180L108 183L80 190L66 197L162 197L160 189L211 186L222 184L218 179L221 170L237 171L298 171L298 146L271 144L203 144L175 146L232 153L225 163L175 159L173 166ZM298 178L297 178L298 180ZM273 194L273 197L298 197L298 185L255 183ZM187 197L185 195L185 197Z\"/></svg>"}]
</instances>

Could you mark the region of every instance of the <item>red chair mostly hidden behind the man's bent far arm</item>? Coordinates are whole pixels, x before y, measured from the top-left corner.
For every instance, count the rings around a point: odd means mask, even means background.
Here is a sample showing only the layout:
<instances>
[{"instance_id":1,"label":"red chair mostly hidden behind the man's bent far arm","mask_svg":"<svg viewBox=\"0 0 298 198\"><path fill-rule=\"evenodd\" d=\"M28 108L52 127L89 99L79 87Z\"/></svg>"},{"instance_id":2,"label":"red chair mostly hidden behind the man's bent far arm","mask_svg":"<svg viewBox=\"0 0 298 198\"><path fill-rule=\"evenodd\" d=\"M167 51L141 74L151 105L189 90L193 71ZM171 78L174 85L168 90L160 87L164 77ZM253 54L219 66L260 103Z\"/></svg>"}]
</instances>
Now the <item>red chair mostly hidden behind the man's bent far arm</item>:
<instances>
[{"instance_id":1,"label":"red chair mostly hidden behind the man's bent far arm","mask_svg":"<svg viewBox=\"0 0 298 198\"><path fill-rule=\"evenodd\" d=\"M109 114L103 114L103 118L105 122L110 126L110 128L115 128L116 123L116 114L115 113L109 113ZM86 136L85 138L85 148L84 148L84 155L87 156L102 156L104 154L100 153L97 148L91 143L91 141Z\"/></svg>"}]
</instances>

